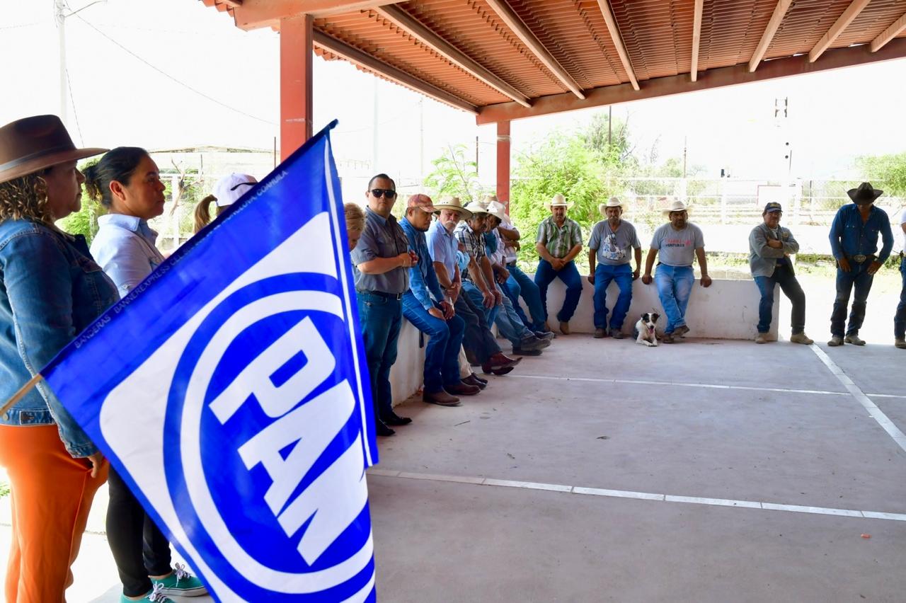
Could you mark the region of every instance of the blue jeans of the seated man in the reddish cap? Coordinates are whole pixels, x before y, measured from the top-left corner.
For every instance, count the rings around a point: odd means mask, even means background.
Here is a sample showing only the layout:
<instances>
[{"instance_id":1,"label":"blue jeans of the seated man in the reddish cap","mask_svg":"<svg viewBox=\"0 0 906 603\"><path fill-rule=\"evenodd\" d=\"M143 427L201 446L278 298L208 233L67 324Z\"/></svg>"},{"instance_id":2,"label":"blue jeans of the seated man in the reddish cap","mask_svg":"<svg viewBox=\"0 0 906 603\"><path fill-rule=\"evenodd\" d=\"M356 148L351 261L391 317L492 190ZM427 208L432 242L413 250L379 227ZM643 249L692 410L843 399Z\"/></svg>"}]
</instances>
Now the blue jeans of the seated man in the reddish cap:
<instances>
[{"instance_id":1,"label":"blue jeans of the seated man in the reddish cap","mask_svg":"<svg viewBox=\"0 0 906 603\"><path fill-rule=\"evenodd\" d=\"M466 321L458 316L448 321L431 316L412 292L402 296L402 315L430 338L425 346L425 391L433 394L444 386L458 385L459 346Z\"/></svg>"}]
</instances>

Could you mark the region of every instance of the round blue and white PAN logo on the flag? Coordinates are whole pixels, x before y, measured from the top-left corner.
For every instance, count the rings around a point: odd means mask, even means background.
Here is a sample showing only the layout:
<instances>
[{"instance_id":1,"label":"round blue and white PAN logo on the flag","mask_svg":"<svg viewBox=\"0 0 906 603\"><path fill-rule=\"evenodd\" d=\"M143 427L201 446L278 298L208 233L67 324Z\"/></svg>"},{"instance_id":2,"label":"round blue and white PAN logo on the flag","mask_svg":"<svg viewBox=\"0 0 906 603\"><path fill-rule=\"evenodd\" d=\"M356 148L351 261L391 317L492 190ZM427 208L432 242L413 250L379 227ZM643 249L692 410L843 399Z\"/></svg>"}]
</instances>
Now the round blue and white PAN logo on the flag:
<instances>
[{"instance_id":1,"label":"round blue and white PAN logo on the flag","mask_svg":"<svg viewBox=\"0 0 906 603\"><path fill-rule=\"evenodd\" d=\"M358 376L342 308L331 276L253 282L207 314L179 361L169 487L237 598L371 592ZM262 528L285 540L258 538Z\"/></svg>"}]
</instances>

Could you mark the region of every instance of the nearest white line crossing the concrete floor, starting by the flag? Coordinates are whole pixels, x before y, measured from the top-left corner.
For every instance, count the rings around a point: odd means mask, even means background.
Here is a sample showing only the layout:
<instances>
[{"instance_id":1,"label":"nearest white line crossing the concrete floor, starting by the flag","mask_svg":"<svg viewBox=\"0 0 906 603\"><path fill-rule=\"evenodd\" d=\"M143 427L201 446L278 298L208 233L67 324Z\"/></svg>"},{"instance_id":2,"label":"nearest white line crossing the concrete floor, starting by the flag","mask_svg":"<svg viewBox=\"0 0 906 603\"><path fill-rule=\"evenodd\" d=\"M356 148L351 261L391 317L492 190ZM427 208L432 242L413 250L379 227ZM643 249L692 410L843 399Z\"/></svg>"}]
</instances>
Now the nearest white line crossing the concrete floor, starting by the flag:
<instances>
[{"instance_id":1,"label":"nearest white line crossing the concrete floor, starting by the flag","mask_svg":"<svg viewBox=\"0 0 906 603\"><path fill-rule=\"evenodd\" d=\"M368 474L378 475L381 477L396 477L399 479L427 480L430 482L469 483L472 485L521 488L525 490L540 490L545 492L606 496L609 498L631 498L638 501L657 501L660 503L704 504L715 507L739 507L742 509L760 509L762 511L786 511L797 513L811 513L813 515L837 515L839 517L857 517L861 519L881 519L892 522L906 522L906 513L854 511L852 509L808 507L800 504L759 503L757 501L734 501L725 498L702 498L699 496L678 496L674 494L631 492L627 490L606 490L603 488L585 488L583 486L571 486L565 485L563 483L516 482L512 480L497 480L489 477L468 477L465 475L416 474L410 472L393 471L390 469L380 469L377 467L371 467L371 469L368 470Z\"/></svg>"}]
</instances>

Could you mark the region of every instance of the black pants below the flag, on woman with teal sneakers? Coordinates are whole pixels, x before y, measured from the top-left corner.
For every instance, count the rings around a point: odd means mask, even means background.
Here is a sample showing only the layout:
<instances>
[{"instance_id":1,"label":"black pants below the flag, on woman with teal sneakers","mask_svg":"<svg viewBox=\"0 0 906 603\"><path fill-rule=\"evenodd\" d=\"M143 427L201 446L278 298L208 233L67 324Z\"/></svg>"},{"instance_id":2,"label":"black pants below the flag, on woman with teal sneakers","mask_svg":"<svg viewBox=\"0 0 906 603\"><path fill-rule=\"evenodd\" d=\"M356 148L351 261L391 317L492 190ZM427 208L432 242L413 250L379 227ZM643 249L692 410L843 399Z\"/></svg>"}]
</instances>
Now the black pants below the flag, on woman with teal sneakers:
<instances>
[{"instance_id":1,"label":"black pants below the flag, on woman with teal sneakers","mask_svg":"<svg viewBox=\"0 0 906 603\"><path fill-rule=\"evenodd\" d=\"M169 541L113 467L107 487L111 499L107 507L107 541L120 573L122 593L140 597L151 589L149 576L164 576L172 571Z\"/></svg>"}]
</instances>

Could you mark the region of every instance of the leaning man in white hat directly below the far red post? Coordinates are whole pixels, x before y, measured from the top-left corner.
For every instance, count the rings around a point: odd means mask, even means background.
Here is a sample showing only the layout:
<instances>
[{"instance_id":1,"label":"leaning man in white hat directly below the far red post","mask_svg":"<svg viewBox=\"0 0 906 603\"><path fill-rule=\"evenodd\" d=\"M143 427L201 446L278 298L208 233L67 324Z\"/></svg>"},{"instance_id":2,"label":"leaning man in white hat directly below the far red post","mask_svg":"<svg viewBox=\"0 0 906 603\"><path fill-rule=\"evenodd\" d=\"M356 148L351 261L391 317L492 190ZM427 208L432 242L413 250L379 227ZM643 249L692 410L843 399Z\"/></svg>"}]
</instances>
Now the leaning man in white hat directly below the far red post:
<instances>
[{"instance_id":1,"label":"leaning man in white hat directly below the far red post","mask_svg":"<svg viewBox=\"0 0 906 603\"><path fill-rule=\"evenodd\" d=\"M509 215L506 214L506 207L500 201L497 201L496 195L485 197L485 203L488 208L491 207L492 203L496 203L500 209L497 212L500 224L496 227L496 233L497 238L503 244L503 251L501 252L498 247L497 252L503 254L502 263L506 268L506 272L509 273L506 285L501 283L501 287L509 297L510 302L513 302L513 307L516 309L516 313L523 324L529 330L532 330L535 335L539 337L545 336L550 331L545 330L545 321L547 320L545 306L541 303L541 293L538 291L538 285L516 264L516 252L519 251L519 239L522 235L519 234L519 229L513 224ZM528 307L528 313L532 317L531 320L529 320L528 315L525 314L522 305L519 303L520 296Z\"/></svg>"}]
</instances>

